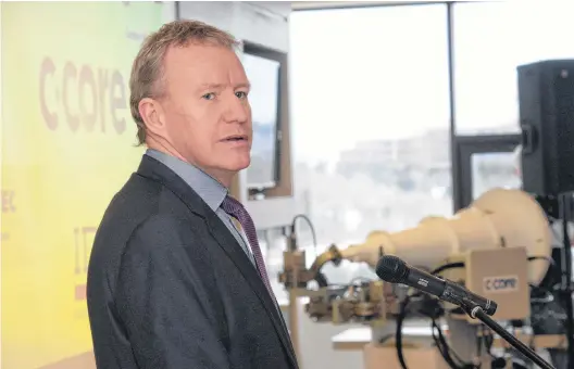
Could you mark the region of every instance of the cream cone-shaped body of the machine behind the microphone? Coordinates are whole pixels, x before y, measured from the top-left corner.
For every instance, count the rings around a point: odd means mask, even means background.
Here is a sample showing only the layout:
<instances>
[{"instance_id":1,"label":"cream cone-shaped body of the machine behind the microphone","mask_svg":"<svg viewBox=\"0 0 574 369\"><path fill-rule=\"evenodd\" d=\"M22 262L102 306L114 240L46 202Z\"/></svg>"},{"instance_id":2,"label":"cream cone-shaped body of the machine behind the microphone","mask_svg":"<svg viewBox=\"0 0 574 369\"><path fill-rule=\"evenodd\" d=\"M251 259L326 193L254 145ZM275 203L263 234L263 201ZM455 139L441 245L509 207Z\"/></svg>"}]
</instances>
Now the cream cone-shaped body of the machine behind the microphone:
<instances>
[{"instance_id":1,"label":"cream cone-shaped body of the machine behind the microphone","mask_svg":"<svg viewBox=\"0 0 574 369\"><path fill-rule=\"evenodd\" d=\"M362 244L344 250L332 246L317 257L313 268L341 259L375 268L378 259L388 254L412 265L435 268L452 255L507 247L525 247L528 256L549 258L551 233L542 208L531 195L520 190L495 189L450 219L428 217L417 227L397 233L374 231ZM547 268L545 260L531 264L531 283L539 283Z\"/></svg>"}]
</instances>

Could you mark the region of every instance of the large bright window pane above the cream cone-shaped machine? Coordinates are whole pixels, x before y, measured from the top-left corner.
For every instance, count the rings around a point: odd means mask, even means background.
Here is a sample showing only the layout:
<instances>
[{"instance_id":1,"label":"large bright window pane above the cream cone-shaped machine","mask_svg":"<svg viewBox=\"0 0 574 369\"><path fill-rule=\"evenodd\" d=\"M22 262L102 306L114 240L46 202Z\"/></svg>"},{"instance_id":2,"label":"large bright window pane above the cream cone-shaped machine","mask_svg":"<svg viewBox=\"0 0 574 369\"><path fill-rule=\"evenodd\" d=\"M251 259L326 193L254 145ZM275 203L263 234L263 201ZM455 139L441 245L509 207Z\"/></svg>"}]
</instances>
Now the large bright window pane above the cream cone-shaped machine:
<instances>
[{"instance_id":1,"label":"large bright window pane above the cream cone-shaped machine","mask_svg":"<svg viewBox=\"0 0 574 369\"><path fill-rule=\"evenodd\" d=\"M450 215L446 5L294 12L290 42L295 192L317 252Z\"/></svg>"}]
</instances>

